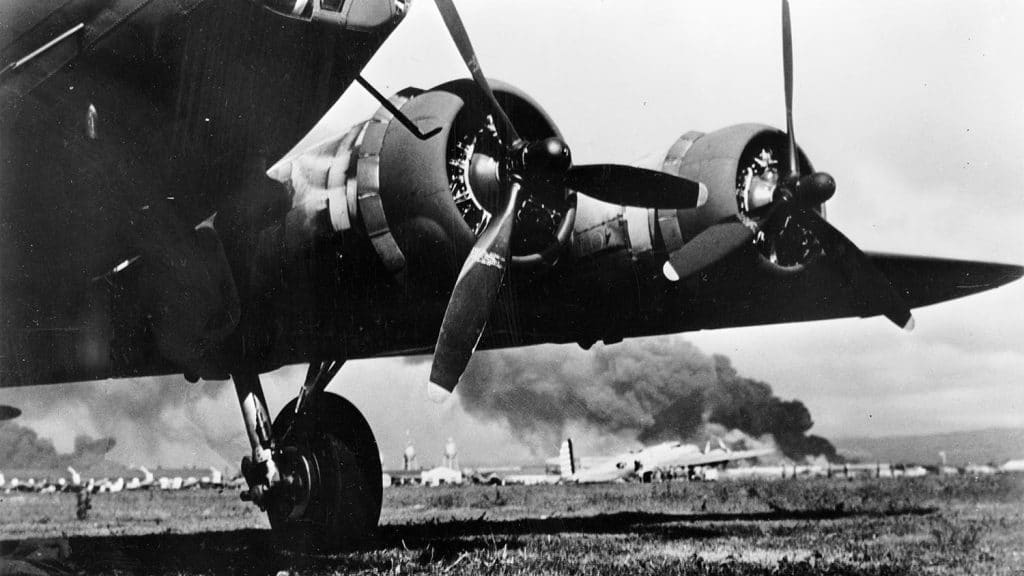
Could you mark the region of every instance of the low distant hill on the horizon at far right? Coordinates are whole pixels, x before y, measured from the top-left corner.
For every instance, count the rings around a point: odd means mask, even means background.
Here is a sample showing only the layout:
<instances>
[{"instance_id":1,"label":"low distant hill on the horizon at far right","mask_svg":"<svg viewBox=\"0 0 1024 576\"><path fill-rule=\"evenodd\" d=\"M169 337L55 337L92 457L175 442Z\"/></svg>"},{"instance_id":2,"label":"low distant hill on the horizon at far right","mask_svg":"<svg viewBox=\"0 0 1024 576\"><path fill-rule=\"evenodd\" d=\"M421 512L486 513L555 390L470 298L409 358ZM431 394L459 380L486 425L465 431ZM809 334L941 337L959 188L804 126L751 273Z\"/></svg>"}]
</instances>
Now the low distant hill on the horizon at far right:
<instances>
[{"instance_id":1,"label":"low distant hill on the horizon at far right","mask_svg":"<svg viewBox=\"0 0 1024 576\"><path fill-rule=\"evenodd\" d=\"M951 465L1001 463L1024 458L1024 428L988 428L919 436L840 438L839 452L852 459L933 464L945 452Z\"/></svg>"}]
</instances>

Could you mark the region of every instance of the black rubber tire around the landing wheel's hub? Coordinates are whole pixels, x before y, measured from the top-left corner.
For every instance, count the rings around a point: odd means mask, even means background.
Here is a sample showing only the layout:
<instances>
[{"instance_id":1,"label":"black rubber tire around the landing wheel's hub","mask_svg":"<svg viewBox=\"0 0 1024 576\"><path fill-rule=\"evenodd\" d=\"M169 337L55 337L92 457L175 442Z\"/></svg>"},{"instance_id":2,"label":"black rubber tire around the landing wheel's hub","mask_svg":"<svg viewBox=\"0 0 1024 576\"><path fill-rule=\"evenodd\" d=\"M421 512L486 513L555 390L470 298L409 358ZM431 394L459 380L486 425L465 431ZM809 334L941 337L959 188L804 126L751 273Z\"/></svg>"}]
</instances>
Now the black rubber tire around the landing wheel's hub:
<instances>
[{"instance_id":1,"label":"black rubber tire around the landing wheel's hub","mask_svg":"<svg viewBox=\"0 0 1024 576\"><path fill-rule=\"evenodd\" d=\"M270 527L284 543L303 551L351 548L373 535L380 521L383 484L377 440L366 418L344 398L321 393L315 413L296 422L295 400L278 414L273 437L279 448L299 446L316 458L321 486L300 519L267 508Z\"/></svg>"}]
</instances>

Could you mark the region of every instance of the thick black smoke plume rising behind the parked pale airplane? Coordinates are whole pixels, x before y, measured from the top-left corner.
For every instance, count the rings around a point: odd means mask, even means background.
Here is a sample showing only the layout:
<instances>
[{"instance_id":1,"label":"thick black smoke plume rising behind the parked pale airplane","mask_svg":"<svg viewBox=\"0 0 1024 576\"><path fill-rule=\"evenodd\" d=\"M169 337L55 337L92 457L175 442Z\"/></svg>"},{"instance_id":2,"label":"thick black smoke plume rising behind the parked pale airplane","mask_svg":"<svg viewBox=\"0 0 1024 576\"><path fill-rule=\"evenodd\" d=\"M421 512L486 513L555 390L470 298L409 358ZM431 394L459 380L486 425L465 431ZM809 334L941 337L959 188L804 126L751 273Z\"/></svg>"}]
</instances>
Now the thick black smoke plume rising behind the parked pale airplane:
<instances>
[{"instance_id":1,"label":"thick black smoke plume rising behind the parked pale airplane","mask_svg":"<svg viewBox=\"0 0 1024 576\"><path fill-rule=\"evenodd\" d=\"M526 442L557 444L571 423L601 434L705 441L709 430L774 440L786 457L836 458L825 439L808 435L810 412L771 386L736 373L678 337L628 340L584 352L538 346L482 353L460 385L463 407L506 422ZM741 447L740 447L741 448Z\"/></svg>"}]
</instances>

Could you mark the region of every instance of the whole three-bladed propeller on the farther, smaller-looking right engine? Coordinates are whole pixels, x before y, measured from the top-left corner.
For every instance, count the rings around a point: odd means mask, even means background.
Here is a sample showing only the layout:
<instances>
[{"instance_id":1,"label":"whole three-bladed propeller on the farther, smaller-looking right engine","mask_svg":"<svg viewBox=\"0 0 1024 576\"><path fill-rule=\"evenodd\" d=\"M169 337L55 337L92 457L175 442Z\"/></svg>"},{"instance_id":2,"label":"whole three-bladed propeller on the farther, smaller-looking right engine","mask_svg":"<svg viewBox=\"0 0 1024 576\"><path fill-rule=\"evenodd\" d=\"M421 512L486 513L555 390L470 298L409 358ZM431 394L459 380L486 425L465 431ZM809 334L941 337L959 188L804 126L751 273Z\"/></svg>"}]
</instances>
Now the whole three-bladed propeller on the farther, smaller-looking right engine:
<instances>
[{"instance_id":1,"label":"whole three-bladed propeller on the farther, smaller-looking right engine","mask_svg":"<svg viewBox=\"0 0 1024 576\"><path fill-rule=\"evenodd\" d=\"M793 131L793 31L788 0L782 0L782 75L785 84L788 174L779 178L770 204L757 209L761 212L759 215L762 216L762 223L737 216L725 218L670 254L670 264L678 277L688 277L754 240L756 234L780 234L792 219L796 219L814 234L824 251L825 265L838 270L871 310L882 311L901 328L912 329L910 308L889 279L850 239L812 209L833 197L836 193L836 180L825 172L800 174L800 155Z\"/></svg>"}]
</instances>

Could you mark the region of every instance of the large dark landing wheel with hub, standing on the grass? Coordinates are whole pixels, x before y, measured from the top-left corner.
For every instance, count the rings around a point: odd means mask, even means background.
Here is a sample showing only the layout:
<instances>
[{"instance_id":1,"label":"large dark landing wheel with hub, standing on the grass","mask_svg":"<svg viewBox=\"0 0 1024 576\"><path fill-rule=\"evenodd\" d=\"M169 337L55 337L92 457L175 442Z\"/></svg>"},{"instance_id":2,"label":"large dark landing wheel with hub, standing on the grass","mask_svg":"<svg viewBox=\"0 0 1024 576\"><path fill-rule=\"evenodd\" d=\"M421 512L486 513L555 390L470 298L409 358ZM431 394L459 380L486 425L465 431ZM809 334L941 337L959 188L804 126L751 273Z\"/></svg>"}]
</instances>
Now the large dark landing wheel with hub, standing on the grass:
<instances>
[{"instance_id":1,"label":"large dark landing wheel with hub, standing on the grass","mask_svg":"<svg viewBox=\"0 0 1024 576\"><path fill-rule=\"evenodd\" d=\"M287 486L267 505L290 547L336 550L370 536L380 520L381 461L370 424L344 398L321 393L314 413L295 417L295 400L273 422L274 461Z\"/></svg>"}]
</instances>

